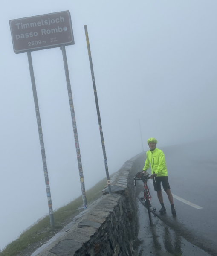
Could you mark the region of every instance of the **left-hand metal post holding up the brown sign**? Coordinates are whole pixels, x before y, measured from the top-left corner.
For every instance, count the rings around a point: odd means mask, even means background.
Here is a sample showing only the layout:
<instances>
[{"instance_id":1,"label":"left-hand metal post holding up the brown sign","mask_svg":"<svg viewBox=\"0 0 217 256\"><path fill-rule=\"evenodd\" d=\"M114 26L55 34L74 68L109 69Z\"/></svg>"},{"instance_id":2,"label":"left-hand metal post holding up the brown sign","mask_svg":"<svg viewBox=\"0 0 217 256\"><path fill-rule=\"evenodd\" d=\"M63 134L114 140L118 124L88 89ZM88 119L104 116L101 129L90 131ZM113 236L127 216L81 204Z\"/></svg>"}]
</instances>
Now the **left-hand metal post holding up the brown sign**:
<instances>
[{"instance_id":1,"label":"left-hand metal post holding up the brown sign","mask_svg":"<svg viewBox=\"0 0 217 256\"><path fill-rule=\"evenodd\" d=\"M41 127L41 118L40 118L40 112L38 107L38 97L37 97L37 91L35 87L35 76L33 71L33 65L32 65L32 56L31 52L27 52L28 61L29 61L29 71L32 81L32 92L35 102L35 113L38 123L38 135L41 145L41 157L43 162L43 170L44 170L44 179L45 179L45 185L46 185L46 192L47 192L47 202L48 202L48 208L49 208L49 215L50 215L50 225L51 227L54 226L54 217L53 217L53 207L52 207L52 201L51 201L51 193L50 193L50 185L49 185L49 177L47 172L47 162L46 162L46 155L45 155L45 148L44 148L44 142L43 142L43 133L42 133L42 127Z\"/></svg>"}]
</instances>

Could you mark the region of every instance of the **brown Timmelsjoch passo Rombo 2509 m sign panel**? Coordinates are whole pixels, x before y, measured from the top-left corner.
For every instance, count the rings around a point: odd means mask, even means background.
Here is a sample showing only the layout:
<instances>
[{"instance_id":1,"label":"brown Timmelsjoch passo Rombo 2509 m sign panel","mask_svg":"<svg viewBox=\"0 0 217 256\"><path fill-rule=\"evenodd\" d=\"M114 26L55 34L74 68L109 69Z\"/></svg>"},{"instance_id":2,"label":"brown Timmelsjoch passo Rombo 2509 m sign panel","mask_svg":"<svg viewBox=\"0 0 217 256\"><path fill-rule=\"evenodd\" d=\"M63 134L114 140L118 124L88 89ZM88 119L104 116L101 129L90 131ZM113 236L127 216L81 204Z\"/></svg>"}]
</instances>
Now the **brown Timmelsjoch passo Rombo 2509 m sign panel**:
<instances>
[{"instance_id":1,"label":"brown Timmelsjoch passo Rombo 2509 m sign panel","mask_svg":"<svg viewBox=\"0 0 217 256\"><path fill-rule=\"evenodd\" d=\"M9 20L15 53L75 44L69 11Z\"/></svg>"}]
</instances>

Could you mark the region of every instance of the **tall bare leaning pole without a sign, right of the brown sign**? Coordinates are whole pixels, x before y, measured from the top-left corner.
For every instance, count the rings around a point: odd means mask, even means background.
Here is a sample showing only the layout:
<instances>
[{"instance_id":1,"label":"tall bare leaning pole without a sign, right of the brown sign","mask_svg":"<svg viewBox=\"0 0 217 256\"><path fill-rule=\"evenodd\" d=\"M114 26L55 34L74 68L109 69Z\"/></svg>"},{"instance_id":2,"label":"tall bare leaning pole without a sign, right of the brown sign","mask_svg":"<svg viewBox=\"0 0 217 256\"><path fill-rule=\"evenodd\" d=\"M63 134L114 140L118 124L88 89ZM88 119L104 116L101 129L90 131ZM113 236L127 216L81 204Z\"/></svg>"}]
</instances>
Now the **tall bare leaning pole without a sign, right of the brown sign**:
<instances>
[{"instance_id":1,"label":"tall bare leaning pole without a sign, right of the brown sign","mask_svg":"<svg viewBox=\"0 0 217 256\"><path fill-rule=\"evenodd\" d=\"M93 72L93 62L92 62L92 57L91 57L91 52L90 52L90 42L89 42L89 37L88 37L88 32L87 32L87 25L84 25L84 30L85 30L85 35L86 35L87 51L88 51L88 55L89 55L90 70L91 70L92 81L93 81L93 91L94 91L95 105L96 105L96 111L97 111L97 116L98 116L98 124L99 124L100 136L101 136L102 151L103 151L103 155L104 155L104 164L105 164L105 172L106 172L106 177L107 177L108 191L109 191L109 194L111 194L112 191L111 191L110 177L109 177L109 172L108 172L107 157L106 157L106 152L105 152L104 137L103 137L103 132L102 132L101 117L100 117L100 112L99 112L98 97L97 97L96 86L95 86L95 77L94 77L94 72Z\"/></svg>"}]
</instances>

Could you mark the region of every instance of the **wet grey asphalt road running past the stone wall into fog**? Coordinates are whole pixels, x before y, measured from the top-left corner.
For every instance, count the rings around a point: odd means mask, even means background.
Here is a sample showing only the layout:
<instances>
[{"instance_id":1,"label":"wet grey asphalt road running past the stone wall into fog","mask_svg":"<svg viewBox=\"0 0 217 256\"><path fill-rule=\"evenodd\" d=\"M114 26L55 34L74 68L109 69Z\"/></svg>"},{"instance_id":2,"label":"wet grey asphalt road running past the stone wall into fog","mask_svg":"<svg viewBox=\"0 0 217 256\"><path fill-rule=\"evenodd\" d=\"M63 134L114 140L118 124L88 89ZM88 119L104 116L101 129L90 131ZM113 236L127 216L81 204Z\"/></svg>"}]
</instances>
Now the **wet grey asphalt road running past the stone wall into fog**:
<instances>
[{"instance_id":1,"label":"wet grey asphalt road running past the stone wall into fog","mask_svg":"<svg viewBox=\"0 0 217 256\"><path fill-rule=\"evenodd\" d=\"M190 145L190 144L189 144ZM205 151L203 145L160 148L165 153L171 192L203 209L174 198L177 215L171 214L167 195L163 193L165 214L161 208L151 182L153 227L150 228L148 212L139 202L139 236L142 241L138 255L212 255L217 256L217 160L216 150ZM150 170L148 170L150 173ZM137 182L138 198L143 196L143 183ZM194 246L194 247L193 247Z\"/></svg>"}]
</instances>

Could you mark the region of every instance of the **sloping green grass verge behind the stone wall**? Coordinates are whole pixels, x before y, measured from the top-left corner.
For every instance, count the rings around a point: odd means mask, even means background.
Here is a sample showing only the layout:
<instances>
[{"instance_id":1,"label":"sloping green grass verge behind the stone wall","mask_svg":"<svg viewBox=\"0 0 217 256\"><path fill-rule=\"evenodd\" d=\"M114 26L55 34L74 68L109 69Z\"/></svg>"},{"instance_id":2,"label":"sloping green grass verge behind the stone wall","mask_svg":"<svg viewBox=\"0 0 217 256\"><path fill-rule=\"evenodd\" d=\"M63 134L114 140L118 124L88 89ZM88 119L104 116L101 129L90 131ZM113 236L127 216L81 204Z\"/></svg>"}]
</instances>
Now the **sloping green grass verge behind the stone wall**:
<instances>
[{"instance_id":1,"label":"sloping green grass verge behind the stone wall","mask_svg":"<svg viewBox=\"0 0 217 256\"><path fill-rule=\"evenodd\" d=\"M112 175L111 175L112 176ZM93 186L91 189L87 190L87 203L91 203L98 197L102 195L102 189L104 189L104 186L107 184L107 179L104 178L103 180L99 181L95 186ZM32 249L36 250L38 247L40 247L42 244L40 244L41 240L47 241L52 236L55 235L59 230L61 230L64 225L71 220L69 220L69 217L73 214L78 213L78 207L81 207L83 209L83 201L82 196L79 196L74 201L70 202L69 204L58 208L54 212L54 220L55 220L55 227L50 227L50 218L49 215L39 219L35 224L27 228L23 231L23 233L20 235L19 238L12 241L10 244L8 244L1 252L0 256L15 256L19 255L19 252L22 250L25 250L29 247L31 244L35 244ZM37 246L36 243L39 243ZM33 250L33 251L34 251ZM26 253L25 253L26 254ZM20 254L20 255L23 255Z\"/></svg>"}]
</instances>

